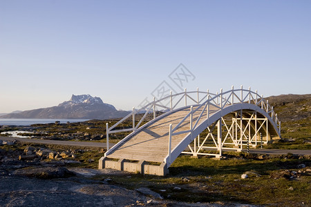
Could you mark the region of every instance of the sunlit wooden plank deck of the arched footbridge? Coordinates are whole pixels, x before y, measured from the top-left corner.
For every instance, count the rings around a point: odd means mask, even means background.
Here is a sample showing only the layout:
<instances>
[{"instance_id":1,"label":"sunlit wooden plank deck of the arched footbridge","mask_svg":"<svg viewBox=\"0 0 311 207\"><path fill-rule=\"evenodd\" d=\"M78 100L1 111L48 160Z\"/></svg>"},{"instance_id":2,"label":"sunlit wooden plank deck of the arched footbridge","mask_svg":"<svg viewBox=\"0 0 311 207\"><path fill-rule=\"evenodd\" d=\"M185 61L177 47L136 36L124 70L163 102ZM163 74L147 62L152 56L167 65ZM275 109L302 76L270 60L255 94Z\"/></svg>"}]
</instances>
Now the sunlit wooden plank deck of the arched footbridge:
<instances>
[{"instance_id":1,"label":"sunlit wooden plank deck of the arched footbridge","mask_svg":"<svg viewBox=\"0 0 311 207\"><path fill-rule=\"evenodd\" d=\"M193 108L193 110L195 109L196 107ZM216 110L217 108L210 107L210 115L212 115L213 112L216 112ZM170 115L159 119L150 126L142 128L142 130L134 133L123 144L109 153L107 157L112 159L143 159L144 161L163 162L164 157L167 157L168 155L169 124L172 124L172 128L174 128L180 121L182 121L189 111L190 108L178 110L177 112L173 112ZM196 123L201 112L202 108L194 113L193 124ZM198 124L204 121L206 116L207 112L205 110ZM180 125L176 132L189 130L189 122L190 117ZM186 135L186 133L174 135L171 140L171 149L178 146L180 141L182 141Z\"/></svg>"}]
</instances>

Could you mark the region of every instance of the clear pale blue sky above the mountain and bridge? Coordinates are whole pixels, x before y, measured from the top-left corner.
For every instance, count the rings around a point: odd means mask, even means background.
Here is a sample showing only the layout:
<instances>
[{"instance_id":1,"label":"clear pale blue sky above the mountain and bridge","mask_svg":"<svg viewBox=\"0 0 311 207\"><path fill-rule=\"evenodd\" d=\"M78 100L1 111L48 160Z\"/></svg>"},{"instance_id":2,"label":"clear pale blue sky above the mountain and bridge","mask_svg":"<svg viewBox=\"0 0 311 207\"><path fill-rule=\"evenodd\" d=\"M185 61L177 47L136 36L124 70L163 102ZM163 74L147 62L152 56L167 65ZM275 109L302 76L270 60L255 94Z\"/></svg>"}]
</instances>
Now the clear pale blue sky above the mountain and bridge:
<instances>
[{"instance_id":1,"label":"clear pale blue sky above the mountain and bridge","mask_svg":"<svg viewBox=\"0 0 311 207\"><path fill-rule=\"evenodd\" d=\"M0 112L73 94L129 110L180 63L188 90L311 93L311 1L0 0Z\"/></svg>"}]
</instances>

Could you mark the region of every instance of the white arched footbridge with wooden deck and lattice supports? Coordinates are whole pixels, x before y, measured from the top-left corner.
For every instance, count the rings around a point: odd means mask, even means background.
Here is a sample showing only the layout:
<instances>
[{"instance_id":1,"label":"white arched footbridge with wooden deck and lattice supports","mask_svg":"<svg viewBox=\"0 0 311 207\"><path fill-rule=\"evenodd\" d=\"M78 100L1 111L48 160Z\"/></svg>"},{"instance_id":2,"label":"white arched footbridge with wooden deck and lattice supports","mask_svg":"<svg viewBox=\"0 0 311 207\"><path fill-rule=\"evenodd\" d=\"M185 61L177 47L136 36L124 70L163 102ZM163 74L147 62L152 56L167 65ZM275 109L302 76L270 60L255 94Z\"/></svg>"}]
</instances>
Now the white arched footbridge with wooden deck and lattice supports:
<instances>
[{"instance_id":1,"label":"white arched footbridge with wooden deck and lattice supports","mask_svg":"<svg viewBox=\"0 0 311 207\"><path fill-rule=\"evenodd\" d=\"M162 113L157 117L158 111ZM152 114L153 119L142 125ZM138 121L135 115L142 118ZM129 119L131 128L117 129ZM109 149L109 135L126 131L131 133ZM220 158L223 150L267 144L272 137L281 137L280 132L281 122L273 107L257 90L232 86L232 90L214 94L185 89L153 99L140 110L133 108L110 128L106 124L109 150L100 159L99 168L165 175L181 153Z\"/></svg>"}]
</instances>

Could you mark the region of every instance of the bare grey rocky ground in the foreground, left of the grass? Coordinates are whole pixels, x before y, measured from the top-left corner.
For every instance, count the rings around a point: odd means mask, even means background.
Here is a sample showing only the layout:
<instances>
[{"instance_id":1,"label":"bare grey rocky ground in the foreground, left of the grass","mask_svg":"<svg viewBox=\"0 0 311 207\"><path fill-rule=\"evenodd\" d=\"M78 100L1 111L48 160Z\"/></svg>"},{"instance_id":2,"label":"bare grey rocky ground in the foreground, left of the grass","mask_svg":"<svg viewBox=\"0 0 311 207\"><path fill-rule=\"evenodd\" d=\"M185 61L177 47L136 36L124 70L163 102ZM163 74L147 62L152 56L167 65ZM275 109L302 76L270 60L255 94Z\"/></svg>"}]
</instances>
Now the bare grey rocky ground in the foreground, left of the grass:
<instances>
[{"instance_id":1,"label":"bare grey rocky ground in the foreground, left of the grass","mask_svg":"<svg viewBox=\"0 0 311 207\"><path fill-rule=\"evenodd\" d=\"M189 204L165 200L146 187L116 186L109 176L132 174L82 168L84 162L94 162L82 160L85 149L53 150L18 141L1 141L0 146L0 206L253 206Z\"/></svg>"}]
</instances>

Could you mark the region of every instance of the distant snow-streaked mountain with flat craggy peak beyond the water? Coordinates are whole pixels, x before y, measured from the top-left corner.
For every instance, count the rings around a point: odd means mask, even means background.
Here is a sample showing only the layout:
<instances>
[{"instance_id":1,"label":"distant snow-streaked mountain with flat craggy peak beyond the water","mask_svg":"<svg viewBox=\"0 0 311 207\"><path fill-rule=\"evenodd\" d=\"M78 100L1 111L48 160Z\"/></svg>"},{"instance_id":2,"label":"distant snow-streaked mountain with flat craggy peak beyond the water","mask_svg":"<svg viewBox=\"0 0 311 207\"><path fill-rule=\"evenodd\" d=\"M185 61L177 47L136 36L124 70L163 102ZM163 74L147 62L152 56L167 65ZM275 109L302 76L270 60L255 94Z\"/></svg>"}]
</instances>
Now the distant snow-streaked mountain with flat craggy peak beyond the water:
<instances>
[{"instance_id":1,"label":"distant snow-streaked mountain with flat craggy peak beyond the water","mask_svg":"<svg viewBox=\"0 0 311 207\"><path fill-rule=\"evenodd\" d=\"M111 119L128 115L129 112L116 110L99 97L91 95L72 95L69 101L58 106L26 110L3 115L3 119Z\"/></svg>"}]
</instances>

